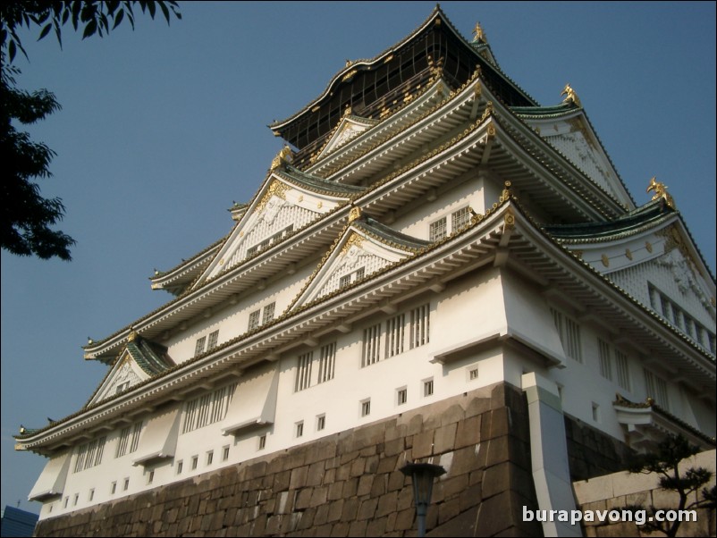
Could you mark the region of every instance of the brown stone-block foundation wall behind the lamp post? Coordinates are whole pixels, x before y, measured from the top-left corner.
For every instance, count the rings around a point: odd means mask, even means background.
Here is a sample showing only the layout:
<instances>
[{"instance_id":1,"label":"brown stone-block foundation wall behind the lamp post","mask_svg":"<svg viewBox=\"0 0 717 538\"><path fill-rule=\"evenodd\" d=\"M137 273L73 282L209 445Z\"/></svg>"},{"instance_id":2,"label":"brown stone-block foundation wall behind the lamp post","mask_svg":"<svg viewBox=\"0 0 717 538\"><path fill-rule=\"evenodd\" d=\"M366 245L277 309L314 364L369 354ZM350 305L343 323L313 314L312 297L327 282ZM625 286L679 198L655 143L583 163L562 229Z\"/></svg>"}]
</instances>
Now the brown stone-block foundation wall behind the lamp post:
<instances>
[{"instance_id":1,"label":"brown stone-block foundation wall behind the lamp post","mask_svg":"<svg viewBox=\"0 0 717 538\"><path fill-rule=\"evenodd\" d=\"M38 536L416 534L407 461L442 465L434 536L540 536L527 403L500 383L238 466L39 522Z\"/></svg>"}]
</instances>

